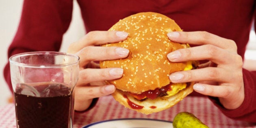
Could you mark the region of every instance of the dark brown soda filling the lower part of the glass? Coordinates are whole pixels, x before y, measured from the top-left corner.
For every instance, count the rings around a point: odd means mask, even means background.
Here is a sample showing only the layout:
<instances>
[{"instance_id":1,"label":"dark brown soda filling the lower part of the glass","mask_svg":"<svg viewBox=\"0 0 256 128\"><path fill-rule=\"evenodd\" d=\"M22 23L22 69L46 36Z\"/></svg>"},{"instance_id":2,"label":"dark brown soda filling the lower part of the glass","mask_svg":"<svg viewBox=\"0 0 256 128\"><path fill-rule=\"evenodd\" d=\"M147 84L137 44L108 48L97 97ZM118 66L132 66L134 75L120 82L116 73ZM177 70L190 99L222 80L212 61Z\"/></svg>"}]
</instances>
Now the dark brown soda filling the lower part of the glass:
<instances>
[{"instance_id":1,"label":"dark brown soda filling the lower part of the glass","mask_svg":"<svg viewBox=\"0 0 256 128\"><path fill-rule=\"evenodd\" d=\"M70 128L74 116L72 90L60 83L17 85L17 128Z\"/></svg>"}]
</instances>

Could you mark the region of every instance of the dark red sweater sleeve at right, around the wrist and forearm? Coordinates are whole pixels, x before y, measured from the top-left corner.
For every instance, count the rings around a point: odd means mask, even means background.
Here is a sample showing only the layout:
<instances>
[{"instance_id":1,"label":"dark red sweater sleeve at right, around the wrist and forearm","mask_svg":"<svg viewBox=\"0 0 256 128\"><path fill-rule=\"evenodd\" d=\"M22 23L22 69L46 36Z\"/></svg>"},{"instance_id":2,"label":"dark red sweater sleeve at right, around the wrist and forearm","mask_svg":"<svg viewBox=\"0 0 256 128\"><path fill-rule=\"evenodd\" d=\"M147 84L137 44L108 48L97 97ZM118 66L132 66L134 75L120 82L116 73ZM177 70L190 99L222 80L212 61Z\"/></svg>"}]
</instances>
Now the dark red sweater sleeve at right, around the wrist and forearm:
<instances>
[{"instance_id":1,"label":"dark red sweater sleeve at right, around the wrist and forearm","mask_svg":"<svg viewBox=\"0 0 256 128\"><path fill-rule=\"evenodd\" d=\"M256 122L256 71L250 72L243 69L243 81L245 86L245 99L243 104L234 110L224 108L218 98L210 97L210 100L222 111L222 113L232 119Z\"/></svg>"}]
</instances>

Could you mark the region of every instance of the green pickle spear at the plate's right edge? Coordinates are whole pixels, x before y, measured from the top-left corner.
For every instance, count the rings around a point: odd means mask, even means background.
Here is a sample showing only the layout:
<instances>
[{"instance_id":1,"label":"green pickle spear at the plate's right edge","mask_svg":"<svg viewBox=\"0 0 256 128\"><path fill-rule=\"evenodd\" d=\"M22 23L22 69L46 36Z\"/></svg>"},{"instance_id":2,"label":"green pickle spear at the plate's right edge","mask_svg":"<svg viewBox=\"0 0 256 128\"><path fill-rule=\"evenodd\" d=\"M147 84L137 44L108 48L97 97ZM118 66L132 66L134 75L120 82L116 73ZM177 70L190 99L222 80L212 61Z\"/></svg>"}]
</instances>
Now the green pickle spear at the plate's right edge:
<instances>
[{"instance_id":1,"label":"green pickle spear at the plate's right edge","mask_svg":"<svg viewBox=\"0 0 256 128\"><path fill-rule=\"evenodd\" d=\"M174 128L209 128L195 117L195 115L188 112L178 113L174 117L172 124Z\"/></svg>"}]
</instances>

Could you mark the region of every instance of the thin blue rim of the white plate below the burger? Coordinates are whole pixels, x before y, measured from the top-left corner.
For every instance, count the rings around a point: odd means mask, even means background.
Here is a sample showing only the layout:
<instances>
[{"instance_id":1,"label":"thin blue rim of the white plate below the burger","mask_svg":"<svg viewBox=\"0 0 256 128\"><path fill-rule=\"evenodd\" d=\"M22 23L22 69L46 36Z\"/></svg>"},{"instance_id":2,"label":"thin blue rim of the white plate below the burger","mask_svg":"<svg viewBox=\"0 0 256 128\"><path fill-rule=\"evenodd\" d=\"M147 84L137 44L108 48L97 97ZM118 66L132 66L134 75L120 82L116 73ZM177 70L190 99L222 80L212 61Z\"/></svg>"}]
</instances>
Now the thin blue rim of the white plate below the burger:
<instances>
[{"instance_id":1,"label":"thin blue rim of the white plate below the burger","mask_svg":"<svg viewBox=\"0 0 256 128\"><path fill-rule=\"evenodd\" d=\"M149 118L119 118L119 119L107 119L107 120L103 120L103 121L97 121L91 124L87 124L86 126L82 126L82 128L89 128L90 126L96 125L96 124L100 124L103 122L109 122L109 121L117 121L117 120L151 120L151 121L161 121L161 122L167 122L167 123L172 123L172 121L167 121L167 120L161 120L161 119L149 119Z\"/></svg>"}]
</instances>

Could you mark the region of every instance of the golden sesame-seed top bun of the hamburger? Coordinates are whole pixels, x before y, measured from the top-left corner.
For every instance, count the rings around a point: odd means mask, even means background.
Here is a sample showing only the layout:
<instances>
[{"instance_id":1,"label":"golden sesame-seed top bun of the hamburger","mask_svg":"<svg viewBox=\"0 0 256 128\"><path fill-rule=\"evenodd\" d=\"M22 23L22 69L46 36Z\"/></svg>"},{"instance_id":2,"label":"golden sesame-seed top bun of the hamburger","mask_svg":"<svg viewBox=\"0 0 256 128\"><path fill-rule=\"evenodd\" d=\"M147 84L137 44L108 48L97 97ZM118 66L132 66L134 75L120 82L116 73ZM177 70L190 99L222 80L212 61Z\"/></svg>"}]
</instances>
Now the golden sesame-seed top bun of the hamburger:
<instances>
[{"instance_id":1,"label":"golden sesame-seed top bun of the hamburger","mask_svg":"<svg viewBox=\"0 0 256 128\"><path fill-rule=\"evenodd\" d=\"M168 39L167 33L182 31L169 17L153 12L137 13L119 20L109 31L125 31L128 38L103 46L118 46L130 50L125 59L101 61L101 68L121 67L123 77L109 80L117 89L141 93L170 83L169 74L183 71L186 63L171 63L167 54L184 48Z\"/></svg>"}]
</instances>

